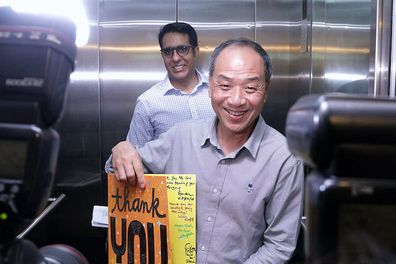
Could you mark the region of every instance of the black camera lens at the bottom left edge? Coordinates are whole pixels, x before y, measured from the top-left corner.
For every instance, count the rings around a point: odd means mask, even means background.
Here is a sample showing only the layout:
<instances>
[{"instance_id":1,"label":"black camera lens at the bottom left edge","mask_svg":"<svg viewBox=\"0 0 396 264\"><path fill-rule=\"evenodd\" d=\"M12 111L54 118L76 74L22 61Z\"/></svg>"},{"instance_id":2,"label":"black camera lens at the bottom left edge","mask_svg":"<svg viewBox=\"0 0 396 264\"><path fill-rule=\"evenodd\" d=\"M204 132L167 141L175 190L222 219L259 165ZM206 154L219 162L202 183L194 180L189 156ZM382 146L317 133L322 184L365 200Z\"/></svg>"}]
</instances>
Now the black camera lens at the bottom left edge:
<instances>
[{"instance_id":1,"label":"black camera lens at the bottom left edge","mask_svg":"<svg viewBox=\"0 0 396 264\"><path fill-rule=\"evenodd\" d=\"M40 249L47 264L88 264L83 254L73 247L54 244Z\"/></svg>"}]
</instances>

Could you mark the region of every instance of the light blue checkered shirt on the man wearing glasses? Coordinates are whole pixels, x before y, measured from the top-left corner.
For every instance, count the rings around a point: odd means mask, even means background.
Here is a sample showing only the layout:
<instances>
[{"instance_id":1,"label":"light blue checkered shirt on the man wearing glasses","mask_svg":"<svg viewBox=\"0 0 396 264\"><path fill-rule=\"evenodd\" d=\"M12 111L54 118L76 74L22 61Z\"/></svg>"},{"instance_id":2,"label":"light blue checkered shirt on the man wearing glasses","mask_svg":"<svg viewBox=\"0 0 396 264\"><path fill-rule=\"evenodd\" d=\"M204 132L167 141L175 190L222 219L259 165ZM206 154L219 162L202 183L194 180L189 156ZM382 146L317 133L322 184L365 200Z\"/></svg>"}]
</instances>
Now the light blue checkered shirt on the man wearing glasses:
<instances>
[{"instance_id":1,"label":"light blue checkered shirt on the man wearing glasses","mask_svg":"<svg viewBox=\"0 0 396 264\"><path fill-rule=\"evenodd\" d=\"M191 94L172 86L165 79L138 97L126 140L144 146L177 123L215 115L208 95L206 76L196 69L199 82Z\"/></svg>"}]
</instances>

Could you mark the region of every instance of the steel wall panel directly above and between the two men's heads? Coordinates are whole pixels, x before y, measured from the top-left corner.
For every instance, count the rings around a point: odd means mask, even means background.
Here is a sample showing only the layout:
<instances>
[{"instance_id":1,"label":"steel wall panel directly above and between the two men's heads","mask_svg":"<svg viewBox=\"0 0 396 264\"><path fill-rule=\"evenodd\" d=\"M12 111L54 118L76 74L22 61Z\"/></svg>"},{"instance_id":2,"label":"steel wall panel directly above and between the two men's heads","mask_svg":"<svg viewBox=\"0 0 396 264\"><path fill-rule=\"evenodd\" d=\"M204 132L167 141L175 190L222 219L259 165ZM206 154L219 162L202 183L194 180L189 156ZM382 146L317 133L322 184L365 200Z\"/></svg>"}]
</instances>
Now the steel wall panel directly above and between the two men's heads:
<instances>
[{"instance_id":1,"label":"steel wall panel directly above and between the two men's heads","mask_svg":"<svg viewBox=\"0 0 396 264\"><path fill-rule=\"evenodd\" d=\"M197 31L199 55L196 67L207 75L213 50L230 38L254 40L254 0L178 0L178 21Z\"/></svg>"}]
</instances>

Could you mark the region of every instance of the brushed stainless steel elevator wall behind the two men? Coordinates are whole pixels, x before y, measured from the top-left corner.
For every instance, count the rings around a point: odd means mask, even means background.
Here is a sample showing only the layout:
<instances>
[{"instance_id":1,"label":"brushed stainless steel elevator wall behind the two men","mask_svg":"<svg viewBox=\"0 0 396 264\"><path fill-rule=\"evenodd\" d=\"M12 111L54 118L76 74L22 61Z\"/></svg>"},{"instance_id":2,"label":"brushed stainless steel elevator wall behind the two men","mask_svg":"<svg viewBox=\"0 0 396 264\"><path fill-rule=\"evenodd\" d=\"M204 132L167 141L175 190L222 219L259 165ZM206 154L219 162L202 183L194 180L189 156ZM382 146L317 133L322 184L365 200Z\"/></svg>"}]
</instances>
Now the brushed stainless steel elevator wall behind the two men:
<instances>
[{"instance_id":1,"label":"brushed stainless steel elevator wall behind the two men","mask_svg":"<svg viewBox=\"0 0 396 264\"><path fill-rule=\"evenodd\" d=\"M374 1L374 0L373 0ZM90 38L78 48L61 121L53 196L63 203L36 236L66 243L91 263L105 263L106 230L92 227L94 205L106 204L104 162L125 140L135 101L166 75L157 33L183 21L198 34L197 68L208 71L213 49L231 37L261 44L273 61L262 115L284 132L286 114L305 94L338 91L369 74L369 0L83 0ZM305 9L304 9L305 8ZM306 12L306 20L302 16ZM312 25L312 27L311 27ZM385 33L384 33L385 34ZM366 87L367 89L367 87Z\"/></svg>"}]
</instances>

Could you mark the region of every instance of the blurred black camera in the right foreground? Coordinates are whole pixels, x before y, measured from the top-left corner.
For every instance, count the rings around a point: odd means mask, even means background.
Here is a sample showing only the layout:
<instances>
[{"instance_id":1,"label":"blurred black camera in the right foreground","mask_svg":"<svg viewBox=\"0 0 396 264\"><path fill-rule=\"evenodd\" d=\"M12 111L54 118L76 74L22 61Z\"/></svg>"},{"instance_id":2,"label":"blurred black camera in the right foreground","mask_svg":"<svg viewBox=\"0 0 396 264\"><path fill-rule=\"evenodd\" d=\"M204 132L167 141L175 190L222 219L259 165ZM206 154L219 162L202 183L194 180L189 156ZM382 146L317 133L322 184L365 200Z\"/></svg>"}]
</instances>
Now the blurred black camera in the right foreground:
<instances>
[{"instance_id":1,"label":"blurred black camera in the right foreground","mask_svg":"<svg viewBox=\"0 0 396 264\"><path fill-rule=\"evenodd\" d=\"M394 263L396 101L328 93L288 112L290 151L305 179L307 263Z\"/></svg>"}]
</instances>

